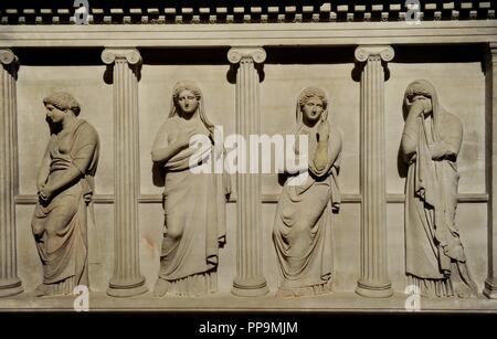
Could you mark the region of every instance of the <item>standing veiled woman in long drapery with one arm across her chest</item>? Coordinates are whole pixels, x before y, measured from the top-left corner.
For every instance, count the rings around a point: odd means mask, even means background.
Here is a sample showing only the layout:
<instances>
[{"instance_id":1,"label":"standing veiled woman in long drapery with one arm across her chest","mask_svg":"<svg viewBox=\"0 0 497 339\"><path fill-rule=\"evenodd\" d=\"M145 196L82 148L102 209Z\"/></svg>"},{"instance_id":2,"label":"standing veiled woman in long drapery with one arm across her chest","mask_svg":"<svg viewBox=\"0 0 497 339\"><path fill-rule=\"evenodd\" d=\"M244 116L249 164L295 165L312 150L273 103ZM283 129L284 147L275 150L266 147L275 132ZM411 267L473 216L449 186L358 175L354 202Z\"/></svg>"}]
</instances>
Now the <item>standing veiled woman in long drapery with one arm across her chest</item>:
<instances>
[{"instance_id":1,"label":"standing veiled woman in long drapery with one arm across her chest","mask_svg":"<svg viewBox=\"0 0 497 339\"><path fill-rule=\"evenodd\" d=\"M194 168L222 151L222 145L214 145L213 134L200 88L192 82L177 83L169 116L151 151L152 161L166 170L156 296L198 296L218 288L218 253L225 243L225 186L220 174ZM190 138L195 135L208 137L210 145L200 151L190 147Z\"/></svg>"}]
</instances>

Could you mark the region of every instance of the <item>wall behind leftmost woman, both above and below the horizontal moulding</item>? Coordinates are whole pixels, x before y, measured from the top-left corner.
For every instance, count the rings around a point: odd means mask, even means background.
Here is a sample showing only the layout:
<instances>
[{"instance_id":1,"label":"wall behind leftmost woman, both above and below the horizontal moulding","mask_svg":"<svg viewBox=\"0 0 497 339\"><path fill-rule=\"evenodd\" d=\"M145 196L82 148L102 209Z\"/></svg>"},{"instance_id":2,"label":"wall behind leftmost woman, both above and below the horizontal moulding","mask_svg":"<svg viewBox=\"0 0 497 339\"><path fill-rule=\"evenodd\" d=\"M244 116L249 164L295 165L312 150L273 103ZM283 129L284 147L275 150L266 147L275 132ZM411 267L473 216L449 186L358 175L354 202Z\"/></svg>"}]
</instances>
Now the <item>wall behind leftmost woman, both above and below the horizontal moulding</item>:
<instances>
[{"instance_id":1,"label":"wall behind leftmost woman, both above and below the horizontal moulding","mask_svg":"<svg viewBox=\"0 0 497 339\"><path fill-rule=\"evenodd\" d=\"M71 93L81 105L80 117L97 130L101 152L95 191L114 194L113 88L103 78L106 67L22 65L22 56L20 61L17 87L20 194L36 194L38 168L50 139L43 98L54 91ZM17 208L19 276L27 290L42 283L41 262L31 232L33 212L34 204ZM95 216L96 225L88 224L91 288L105 290L113 269L113 205L95 204Z\"/></svg>"}]
</instances>

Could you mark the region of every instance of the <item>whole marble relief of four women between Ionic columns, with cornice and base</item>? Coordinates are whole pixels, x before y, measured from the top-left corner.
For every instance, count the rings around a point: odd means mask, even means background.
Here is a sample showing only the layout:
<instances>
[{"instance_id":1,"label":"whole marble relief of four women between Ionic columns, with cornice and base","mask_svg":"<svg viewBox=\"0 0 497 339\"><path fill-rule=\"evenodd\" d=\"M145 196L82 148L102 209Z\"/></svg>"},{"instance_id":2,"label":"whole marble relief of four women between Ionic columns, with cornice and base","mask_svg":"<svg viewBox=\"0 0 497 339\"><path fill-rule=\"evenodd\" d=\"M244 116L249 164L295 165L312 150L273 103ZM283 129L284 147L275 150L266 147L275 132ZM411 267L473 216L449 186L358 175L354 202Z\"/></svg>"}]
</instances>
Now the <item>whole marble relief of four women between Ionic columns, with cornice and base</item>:
<instances>
[{"instance_id":1,"label":"whole marble relief of four women between Ionic columns, with cornice and base","mask_svg":"<svg viewBox=\"0 0 497 339\"><path fill-rule=\"evenodd\" d=\"M2 3L0 309L497 310L495 4L356 2Z\"/></svg>"}]
</instances>

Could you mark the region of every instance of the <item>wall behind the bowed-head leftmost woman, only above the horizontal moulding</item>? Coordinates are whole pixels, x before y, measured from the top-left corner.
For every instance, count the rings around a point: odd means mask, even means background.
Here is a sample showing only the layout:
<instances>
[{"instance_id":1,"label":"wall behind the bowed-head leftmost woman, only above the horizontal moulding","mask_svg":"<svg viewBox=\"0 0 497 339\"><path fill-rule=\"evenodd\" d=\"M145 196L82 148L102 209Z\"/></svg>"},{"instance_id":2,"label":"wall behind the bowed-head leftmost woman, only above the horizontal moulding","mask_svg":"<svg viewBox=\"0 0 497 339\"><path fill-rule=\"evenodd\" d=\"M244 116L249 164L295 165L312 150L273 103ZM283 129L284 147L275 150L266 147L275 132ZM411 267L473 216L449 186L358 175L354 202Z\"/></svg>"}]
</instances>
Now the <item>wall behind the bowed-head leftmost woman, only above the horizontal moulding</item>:
<instances>
[{"instance_id":1,"label":"wall behind the bowed-head leftmost woman, only above the horizontal moulding","mask_svg":"<svg viewBox=\"0 0 497 339\"><path fill-rule=\"evenodd\" d=\"M21 60L22 62L22 60ZM50 139L43 98L55 91L72 94L81 105L80 118L92 124L101 139L99 194L114 192L113 88L104 82L105 66L22 65L18 78L20 193L36 193L38 166Z\"/></svg>"}]
</instances>

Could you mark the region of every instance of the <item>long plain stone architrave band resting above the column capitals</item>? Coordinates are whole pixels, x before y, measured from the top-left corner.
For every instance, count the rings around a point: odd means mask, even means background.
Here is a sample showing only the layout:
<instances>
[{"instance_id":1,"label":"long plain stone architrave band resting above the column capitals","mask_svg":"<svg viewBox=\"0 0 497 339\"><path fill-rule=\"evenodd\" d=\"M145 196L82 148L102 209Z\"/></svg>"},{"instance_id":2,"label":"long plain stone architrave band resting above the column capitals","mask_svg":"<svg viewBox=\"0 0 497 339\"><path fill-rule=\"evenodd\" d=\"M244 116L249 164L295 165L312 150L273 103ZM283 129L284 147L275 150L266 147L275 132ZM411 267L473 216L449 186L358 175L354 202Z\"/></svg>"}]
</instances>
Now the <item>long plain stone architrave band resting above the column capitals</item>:
<instances>
[{"instance_id":1,"label":"long plain stone architrave band resting above the column capitals","mask_svg":"<svg viewBox=\"0 0 497 339\"><path fill-rule=\"evenodd\" d=\"M304 29L305 28L305 29ZM292 46L462 44L495 41L497 20L225 25L4 25L0 46Z\"/></svg>"}]
</instances>

